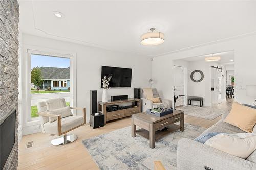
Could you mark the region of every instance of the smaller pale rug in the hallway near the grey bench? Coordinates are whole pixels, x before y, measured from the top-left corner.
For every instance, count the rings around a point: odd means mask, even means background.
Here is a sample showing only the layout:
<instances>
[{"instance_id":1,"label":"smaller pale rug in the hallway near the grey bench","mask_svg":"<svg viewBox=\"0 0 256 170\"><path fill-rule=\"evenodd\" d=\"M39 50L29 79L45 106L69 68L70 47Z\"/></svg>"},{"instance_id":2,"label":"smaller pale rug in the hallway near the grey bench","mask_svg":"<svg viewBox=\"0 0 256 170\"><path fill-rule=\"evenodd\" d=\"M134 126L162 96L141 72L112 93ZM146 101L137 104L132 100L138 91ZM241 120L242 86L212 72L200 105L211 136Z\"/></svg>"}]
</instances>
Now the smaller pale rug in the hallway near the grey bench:
<instances>
[{"instance_id":1,"label":"smaller pale rug in the hallway near the grey bench","mask_svg":"<svg viewBox=\"0 0 256 170\"><path fill-rule=\"evenodd\" d=\"M212 107L199 107L199 106L184 106L179 108L179 110L184 111L184 114L194 117L199 117L207 120L213 120L216 117L219 117L224 112L229 112L227 110L221 110Z\"/></svg>"}]
</instances>

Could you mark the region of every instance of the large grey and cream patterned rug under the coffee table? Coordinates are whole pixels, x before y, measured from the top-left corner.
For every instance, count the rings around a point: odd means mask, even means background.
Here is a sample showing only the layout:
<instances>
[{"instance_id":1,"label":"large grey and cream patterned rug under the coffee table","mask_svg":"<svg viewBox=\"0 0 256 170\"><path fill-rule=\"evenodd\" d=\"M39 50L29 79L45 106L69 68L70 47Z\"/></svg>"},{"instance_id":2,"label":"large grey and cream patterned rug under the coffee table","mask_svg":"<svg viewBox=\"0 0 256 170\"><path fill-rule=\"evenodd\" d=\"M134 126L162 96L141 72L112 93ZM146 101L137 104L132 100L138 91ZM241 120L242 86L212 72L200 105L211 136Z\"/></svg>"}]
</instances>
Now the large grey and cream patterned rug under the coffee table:
<instances>
[{"instance_id":1,"label":"large grey and cream patterned rug under the coffee table","mask_svg":"<svg viewBox=\"0 0 256 170\"><path fill-rule=\"evenodd\" d=\"M138 128L137 128L138 129ZM205 128L185 123L185 131L169 133L156 141L154 149L137 134L131 137L131 126L82 140L100 169L154 169L160 160L166 169L177 169L177 143L181 138L194 139Z\"/></svg>"}]
</instances>

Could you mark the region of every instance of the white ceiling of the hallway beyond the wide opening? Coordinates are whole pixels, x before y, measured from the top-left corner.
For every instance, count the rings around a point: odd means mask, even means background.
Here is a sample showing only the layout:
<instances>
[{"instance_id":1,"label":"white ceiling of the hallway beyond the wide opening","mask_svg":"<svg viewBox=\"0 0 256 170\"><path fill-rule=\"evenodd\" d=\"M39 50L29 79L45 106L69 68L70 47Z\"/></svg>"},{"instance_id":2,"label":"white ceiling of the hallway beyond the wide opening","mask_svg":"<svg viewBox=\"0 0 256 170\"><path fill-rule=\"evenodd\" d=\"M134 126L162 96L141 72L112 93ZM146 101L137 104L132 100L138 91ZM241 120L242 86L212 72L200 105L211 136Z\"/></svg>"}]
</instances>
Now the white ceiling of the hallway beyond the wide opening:
<instances>
[{"instance_id":1,"label":"white ceiling of the hallway beyond the wide opening","mask_svg":"<svg viewBox=\"0 0 256 170\"><path fill-rule=\"evenodd\" d=\"M234 51L219 52L219 53L214 53L214 54L206 54L206 55L202 55L202 56L184 58L182 60L185 60L185 61L204 61L205 57L211 57L211 55L221 57L221 60L216 61L216 63L219 63L221 65L234 65ZM233 61L230 61L230 60L233 60Z\"/></svg>"}]
</instances>

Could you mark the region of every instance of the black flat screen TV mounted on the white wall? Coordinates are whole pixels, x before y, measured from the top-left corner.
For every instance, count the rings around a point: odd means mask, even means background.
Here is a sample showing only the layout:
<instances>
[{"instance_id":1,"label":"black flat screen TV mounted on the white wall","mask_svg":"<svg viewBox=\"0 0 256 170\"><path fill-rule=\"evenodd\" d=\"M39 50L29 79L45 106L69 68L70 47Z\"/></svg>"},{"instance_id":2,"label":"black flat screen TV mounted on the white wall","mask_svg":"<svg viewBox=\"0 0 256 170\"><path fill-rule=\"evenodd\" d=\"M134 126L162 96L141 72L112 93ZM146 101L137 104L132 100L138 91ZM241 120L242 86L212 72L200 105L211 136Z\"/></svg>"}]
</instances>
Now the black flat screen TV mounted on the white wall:
<instances>
[{"instance_id":1,"label":"black flat screen TV mounted on the white wall","mask_svg":"<svg viewBox=\"0 0 256 170\"><path fill-rule=\"evenodd\" d=\"M101 66L101 88L104 76L112 77L109 87L131 87L132 69Z\"/></svg>"}]
</instances>

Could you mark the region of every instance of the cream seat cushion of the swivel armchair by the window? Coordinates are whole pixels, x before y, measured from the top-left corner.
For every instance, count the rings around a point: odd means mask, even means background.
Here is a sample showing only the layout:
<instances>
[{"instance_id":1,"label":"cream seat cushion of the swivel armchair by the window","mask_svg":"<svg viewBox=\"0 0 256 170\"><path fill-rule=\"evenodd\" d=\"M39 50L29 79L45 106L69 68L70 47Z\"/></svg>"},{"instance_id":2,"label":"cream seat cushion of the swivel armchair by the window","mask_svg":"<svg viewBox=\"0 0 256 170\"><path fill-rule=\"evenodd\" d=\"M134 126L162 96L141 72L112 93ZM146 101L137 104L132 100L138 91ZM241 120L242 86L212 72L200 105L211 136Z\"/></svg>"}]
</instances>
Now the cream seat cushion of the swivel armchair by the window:
<instances>
[{"instance_id":1,"label":"cream seat cushion of the swivel armchair by the window","mask_svg":"<svg viewBox=\"0 0 256 170\"><path fill-rule=\"evenodd\" d=\"M75 128L84 123L83 116L69 116L61 118L61 132L65 132L72 128ZM57 133L58 122L54 121L53 123L47 122L44 124L44 129L46 133L58 134Z\"/></svg>"}]
</instances>

